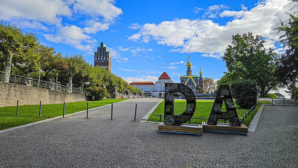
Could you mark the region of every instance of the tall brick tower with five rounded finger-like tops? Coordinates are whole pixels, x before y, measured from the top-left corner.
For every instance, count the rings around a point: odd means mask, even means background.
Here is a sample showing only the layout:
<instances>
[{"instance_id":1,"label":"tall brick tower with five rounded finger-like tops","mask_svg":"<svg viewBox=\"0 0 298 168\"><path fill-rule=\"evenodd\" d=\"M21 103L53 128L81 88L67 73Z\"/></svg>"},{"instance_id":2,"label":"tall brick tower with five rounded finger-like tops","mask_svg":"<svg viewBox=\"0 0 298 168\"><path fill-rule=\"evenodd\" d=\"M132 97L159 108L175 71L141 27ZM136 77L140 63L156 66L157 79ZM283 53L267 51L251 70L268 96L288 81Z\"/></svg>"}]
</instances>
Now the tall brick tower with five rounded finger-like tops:
<instances>
[{"instance_id":1,"label":"tall brick tower with five rounded finger-like tops","mask_svg":"<svg viewBox=\"0 0 298 168\"><path fill-rule=\"evenodd\" d=\"M97 48L97 52L94 53L94 67L99 66L101 68L107 68L111 72L111 53L106 45L101 42L100 47Z\"/></svg>"}]
</instances>

